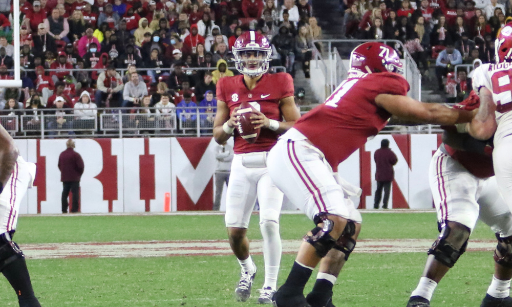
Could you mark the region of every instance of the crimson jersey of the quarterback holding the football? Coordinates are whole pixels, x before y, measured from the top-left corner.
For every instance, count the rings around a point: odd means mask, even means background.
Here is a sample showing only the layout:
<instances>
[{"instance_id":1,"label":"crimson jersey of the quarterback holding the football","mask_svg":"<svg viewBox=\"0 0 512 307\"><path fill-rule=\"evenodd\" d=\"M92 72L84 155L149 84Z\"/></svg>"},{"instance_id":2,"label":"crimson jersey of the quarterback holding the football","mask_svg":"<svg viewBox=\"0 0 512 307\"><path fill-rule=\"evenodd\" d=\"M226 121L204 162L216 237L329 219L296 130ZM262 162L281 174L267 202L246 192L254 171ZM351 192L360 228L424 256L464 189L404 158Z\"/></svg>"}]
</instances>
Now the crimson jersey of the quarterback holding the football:
<instances>
[{"instance_id":1,"label":"crimson jersey of the quarterback holding the football","mask_svg":"<svg viewBox=\"0 0 512 307\"><path fill-rule=\"evenodd\" d=\"M287 73L264 74L256 87L249 91L244 76L223 77L217 82L217 100L224 101L229 107L229 114L242 101L249 102L254 108L260 109L269 119L281 121L282 113L279 102L293 96L293 79ZM268 151L275 145L278 134L270 129L261 129L260 136L254 144L250 144L235 129L234 153Z\"/></svg>"}]
</instances>

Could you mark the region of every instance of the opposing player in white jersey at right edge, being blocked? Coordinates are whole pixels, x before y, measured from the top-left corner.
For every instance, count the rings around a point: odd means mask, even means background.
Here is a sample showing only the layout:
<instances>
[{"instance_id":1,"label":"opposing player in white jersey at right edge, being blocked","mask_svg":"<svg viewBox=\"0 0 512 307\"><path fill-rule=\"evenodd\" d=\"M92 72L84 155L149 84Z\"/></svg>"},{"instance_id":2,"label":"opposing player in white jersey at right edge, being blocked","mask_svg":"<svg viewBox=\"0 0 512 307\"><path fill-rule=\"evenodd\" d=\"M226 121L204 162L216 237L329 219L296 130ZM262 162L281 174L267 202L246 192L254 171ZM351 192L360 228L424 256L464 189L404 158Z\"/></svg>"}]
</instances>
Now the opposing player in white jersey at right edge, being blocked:
<instances>
[{"instance_id":1,"label":"opposing player in white jersey at right edge, being blocked","mask_svg":"<svg viewBox=\"0 0 512 307\"><path fill-rule=\"evenodd\" d=\"M478 113L465 129L486 140L494 135L494 171L501 195L512 209L512 27L501 29L495 42L496 64L483 64L473 74L473 88L480 97ZM500 242L498 264L512 269L512 238ZM508 282L510 282L508 280Z\"/></svg>"}]
</instances>

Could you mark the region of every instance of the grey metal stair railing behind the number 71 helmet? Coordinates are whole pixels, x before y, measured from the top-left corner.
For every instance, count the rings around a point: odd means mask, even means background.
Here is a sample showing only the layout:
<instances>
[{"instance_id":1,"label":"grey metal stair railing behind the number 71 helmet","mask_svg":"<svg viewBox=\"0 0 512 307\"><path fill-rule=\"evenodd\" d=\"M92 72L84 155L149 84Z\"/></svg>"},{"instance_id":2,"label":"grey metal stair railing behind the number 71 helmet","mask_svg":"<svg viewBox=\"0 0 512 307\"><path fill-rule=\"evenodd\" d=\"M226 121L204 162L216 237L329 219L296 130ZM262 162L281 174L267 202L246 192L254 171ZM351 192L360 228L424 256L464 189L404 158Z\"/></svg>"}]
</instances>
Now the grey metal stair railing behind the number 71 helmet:
<instances>
[{"instance_id":1,"label":"grey metal stair railing behind the number 71 helmet","mask_svg":"<svg viewBox=\"0 0 512 307\"><path fill-rule=\"evenodd\" d=\"M412 58L412 56L407 51L407 48L403 46L403 43L399 40L394 39L382 39L382 40L359 40L359 39L320 39L314 40L313 43L319 43L322 45L322 50L327 53L328 63L326 64L325 60L321 55L315 55L316 62L321 62L326 68L322 67L322 72L324 73L324 77L326 79L326 88L328 89L327 96L329 96L332 91L339 84L339 79L345 79L347 77L347 69L348 63L343 65L344 67L340 67L337 65L337 62L340 60L348 60L350 58L350 53L352 50L360 45L363 42L367 41L379 41L383 42L386 45L393 46L393 48L399 50L403 55L403 68L404 68L404 77L409 82L411 86L411 90L408 95L414 99L421 100L421 74L416 65L416 62ZM317 49L314 48L316 53ZM338 59L339 57L339 59ZM331 71L334 69L336 72L331 72L327 67L330 67Z\"/></svg>"}]
</instances>

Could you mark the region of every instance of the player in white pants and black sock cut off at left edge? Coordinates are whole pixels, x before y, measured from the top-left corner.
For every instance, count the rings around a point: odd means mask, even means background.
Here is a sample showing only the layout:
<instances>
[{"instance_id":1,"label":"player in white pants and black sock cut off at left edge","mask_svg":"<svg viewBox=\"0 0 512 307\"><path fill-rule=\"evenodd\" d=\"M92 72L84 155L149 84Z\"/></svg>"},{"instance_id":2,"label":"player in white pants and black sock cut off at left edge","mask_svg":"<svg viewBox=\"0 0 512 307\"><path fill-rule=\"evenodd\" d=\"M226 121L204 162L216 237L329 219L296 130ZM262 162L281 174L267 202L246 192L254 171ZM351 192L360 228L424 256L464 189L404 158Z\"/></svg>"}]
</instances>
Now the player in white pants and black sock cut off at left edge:
<instances>
[{"instance_id":1,"label":"player in white pants and black sock cut off at left edge","mask_svg":"<svg viewBox=\"0 0 512 307\"><path fill-rule=\"evenodd\" d=\"M19 307L40 307L34 295L25 256L12 236L19 205L35 179L35 164L18 155L14 140L0 125L0 271L18 297Z\"/></svg>"}]
</instances>

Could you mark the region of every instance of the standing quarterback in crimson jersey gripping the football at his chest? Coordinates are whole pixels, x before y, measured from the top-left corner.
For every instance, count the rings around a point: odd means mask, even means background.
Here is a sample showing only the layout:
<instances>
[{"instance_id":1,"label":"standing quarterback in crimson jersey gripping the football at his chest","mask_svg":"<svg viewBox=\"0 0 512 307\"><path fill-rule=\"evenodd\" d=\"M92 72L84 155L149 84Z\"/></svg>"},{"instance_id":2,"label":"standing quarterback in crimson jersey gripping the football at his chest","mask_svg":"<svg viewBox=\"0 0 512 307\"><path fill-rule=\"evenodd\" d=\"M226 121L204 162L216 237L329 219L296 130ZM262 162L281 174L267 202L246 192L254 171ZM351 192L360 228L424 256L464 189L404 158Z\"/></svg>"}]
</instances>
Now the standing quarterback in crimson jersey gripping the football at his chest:
<instances>
[{"instance_id":1,"label":"standing quarterback in crimson jersey gripping the football at his chest","mask_svg":"<svg viewBox=\"0 0 512 307\"><path fill-rule=\"evenodd\" d=\"M279 214L283 193L270 180L266 167L267 153L278 136L300 117L293 98L291 76L287 73L266 74L271 54L272 49L265 36L247 31L238 37L233 46L233 55L235 66L243 75L224 77L218 81L214 122L214 138L217 143L223 144L238 125L237 110L242 101L249 102L259 110L251 116L252 123L262 128L257 141L249 144L238 133L234 135L225 222L231 249L242 267L235 294L237 300L246 301L251 295L252 281L257 271L249 254L246 232L258 198L265 259L265 283L258 298L262 304L272 303L282 250ZM286 122L281 121L282 118Z\"/></svg>"}]
</instances>

